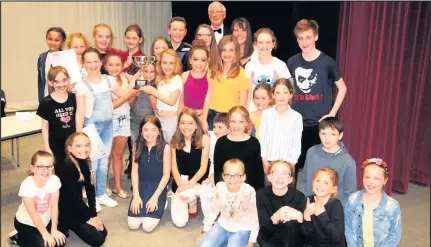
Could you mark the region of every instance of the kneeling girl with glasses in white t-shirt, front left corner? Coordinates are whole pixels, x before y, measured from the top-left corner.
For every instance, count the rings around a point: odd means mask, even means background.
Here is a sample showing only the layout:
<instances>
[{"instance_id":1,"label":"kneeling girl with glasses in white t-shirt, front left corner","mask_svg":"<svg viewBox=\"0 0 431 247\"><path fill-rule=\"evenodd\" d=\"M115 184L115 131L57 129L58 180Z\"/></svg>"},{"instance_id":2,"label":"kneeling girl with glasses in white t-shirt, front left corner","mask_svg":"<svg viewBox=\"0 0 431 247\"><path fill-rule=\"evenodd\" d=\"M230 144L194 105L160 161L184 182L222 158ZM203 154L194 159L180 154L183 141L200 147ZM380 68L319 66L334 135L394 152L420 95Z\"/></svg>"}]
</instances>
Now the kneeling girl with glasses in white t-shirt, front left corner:
<instances>
[{"instance_id":1,"label":"kneeling girl with glasses in white t-shirt, front left corner","mask_svg":"<svg viewBox=\"0 0 431 247\"><path fill-rule=\"evenodd\" d=\"M22 181L21 205L15 215L18 232L11 236L22 247L64 246L66 237L57 230L60 179L53 174L54 157L37 151L31 157L30 176Z\"/></svg>"}]
</instances>

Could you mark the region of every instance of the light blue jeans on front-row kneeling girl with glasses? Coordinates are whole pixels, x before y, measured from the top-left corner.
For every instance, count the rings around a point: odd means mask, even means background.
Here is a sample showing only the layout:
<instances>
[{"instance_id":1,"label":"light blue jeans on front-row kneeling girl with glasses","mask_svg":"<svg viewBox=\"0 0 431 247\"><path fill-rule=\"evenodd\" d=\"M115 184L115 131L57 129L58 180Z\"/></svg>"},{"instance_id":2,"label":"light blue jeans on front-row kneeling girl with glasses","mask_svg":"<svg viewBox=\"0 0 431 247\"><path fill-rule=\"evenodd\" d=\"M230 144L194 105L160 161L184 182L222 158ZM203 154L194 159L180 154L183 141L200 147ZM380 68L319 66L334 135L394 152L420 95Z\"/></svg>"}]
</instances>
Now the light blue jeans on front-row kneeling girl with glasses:
<instances>
[{"instance_id":1,"label":"light blue jeans on front-row kneeling girl with glasses","mask_svg":"<svg viewBox=\"0 0 431 247\"><path fill-rule=\"evenodd\" d=\"M226 242L227 247L245 247L248 244L250 233L250 231L229 232L217 222L204 235L198 247L221 247Z\"/></svg>"}]
</instances>

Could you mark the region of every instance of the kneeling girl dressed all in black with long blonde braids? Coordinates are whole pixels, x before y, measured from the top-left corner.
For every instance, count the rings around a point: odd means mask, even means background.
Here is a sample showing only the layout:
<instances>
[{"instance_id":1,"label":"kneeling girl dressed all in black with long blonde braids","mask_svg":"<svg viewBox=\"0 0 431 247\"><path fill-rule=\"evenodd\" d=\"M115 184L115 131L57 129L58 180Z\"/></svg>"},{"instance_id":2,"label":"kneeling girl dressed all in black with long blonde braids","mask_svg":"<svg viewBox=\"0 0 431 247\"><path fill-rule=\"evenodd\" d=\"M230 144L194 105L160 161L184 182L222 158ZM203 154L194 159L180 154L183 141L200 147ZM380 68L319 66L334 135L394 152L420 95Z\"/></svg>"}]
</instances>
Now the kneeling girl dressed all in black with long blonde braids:
<instances>
[{"instance_id":1,"label":"kneeling girl dressed all in black with long blonde braids","mask_svg":"<svg viewBox=\"0 0 431 247\"><path fill-rule=\"evenodd\" d=\"M90 139L82 132L66 140L66 159L56 169L63 186L60 188L59 229L68 235L72 230L86 244L102 246L108 232L96 212L94 173L90 161ZM82 189L87 194L87 204Z\"/></svg>"}]
</instances>

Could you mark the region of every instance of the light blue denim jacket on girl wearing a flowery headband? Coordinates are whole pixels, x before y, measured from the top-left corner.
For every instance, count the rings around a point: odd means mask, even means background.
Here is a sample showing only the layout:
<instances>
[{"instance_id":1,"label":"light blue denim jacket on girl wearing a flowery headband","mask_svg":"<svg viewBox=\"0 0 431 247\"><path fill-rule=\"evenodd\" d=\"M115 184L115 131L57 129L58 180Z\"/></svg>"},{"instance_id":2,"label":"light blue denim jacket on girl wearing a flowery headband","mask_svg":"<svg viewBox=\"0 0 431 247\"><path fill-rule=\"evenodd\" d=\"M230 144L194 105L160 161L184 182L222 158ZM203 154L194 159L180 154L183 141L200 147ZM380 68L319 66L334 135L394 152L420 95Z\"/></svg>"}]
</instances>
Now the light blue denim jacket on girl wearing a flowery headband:
<instances>
[{"instance_id":1,"label":"light blue denim jacket on girl wearing a flowery headband","mask_svg":"<svg viewBox=\"0 0 431 247\"><path fill-rule=\"evenodd\" d=\"M348 247L364 246L362 216L364 189L350 195L344 208L345 234ZM382 192L379 205L373 210L374 247L398 246L402 234L401 209L398 202Z\"/></svg>"}]
</instances>

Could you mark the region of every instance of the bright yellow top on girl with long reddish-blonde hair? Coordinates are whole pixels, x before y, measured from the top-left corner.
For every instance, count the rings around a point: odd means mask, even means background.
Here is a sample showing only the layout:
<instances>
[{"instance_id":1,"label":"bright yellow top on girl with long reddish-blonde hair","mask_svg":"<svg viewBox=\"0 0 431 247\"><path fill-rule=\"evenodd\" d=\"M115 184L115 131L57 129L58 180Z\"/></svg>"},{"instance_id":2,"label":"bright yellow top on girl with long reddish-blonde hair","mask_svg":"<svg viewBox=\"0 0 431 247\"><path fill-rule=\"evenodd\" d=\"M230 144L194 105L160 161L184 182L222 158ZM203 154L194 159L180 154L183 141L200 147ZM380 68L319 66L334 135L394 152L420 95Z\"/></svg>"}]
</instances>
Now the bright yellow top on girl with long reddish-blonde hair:
<instances>
[{"instance_id":1,"label":"bright yellow top on girl with long reddish-blonde hair","mask_svg":"<svg viewBox=\"0 0 431 247\"><path fill-rule=\"evenodd\" d=\"M249 90L251 82L240 68L239 74L234 78L216 80L209 78L212 87L212 100L210 109L218 112L228 112L232 107L239 105L239 95L242 90Z\"/></svg>"}]
</instances>

